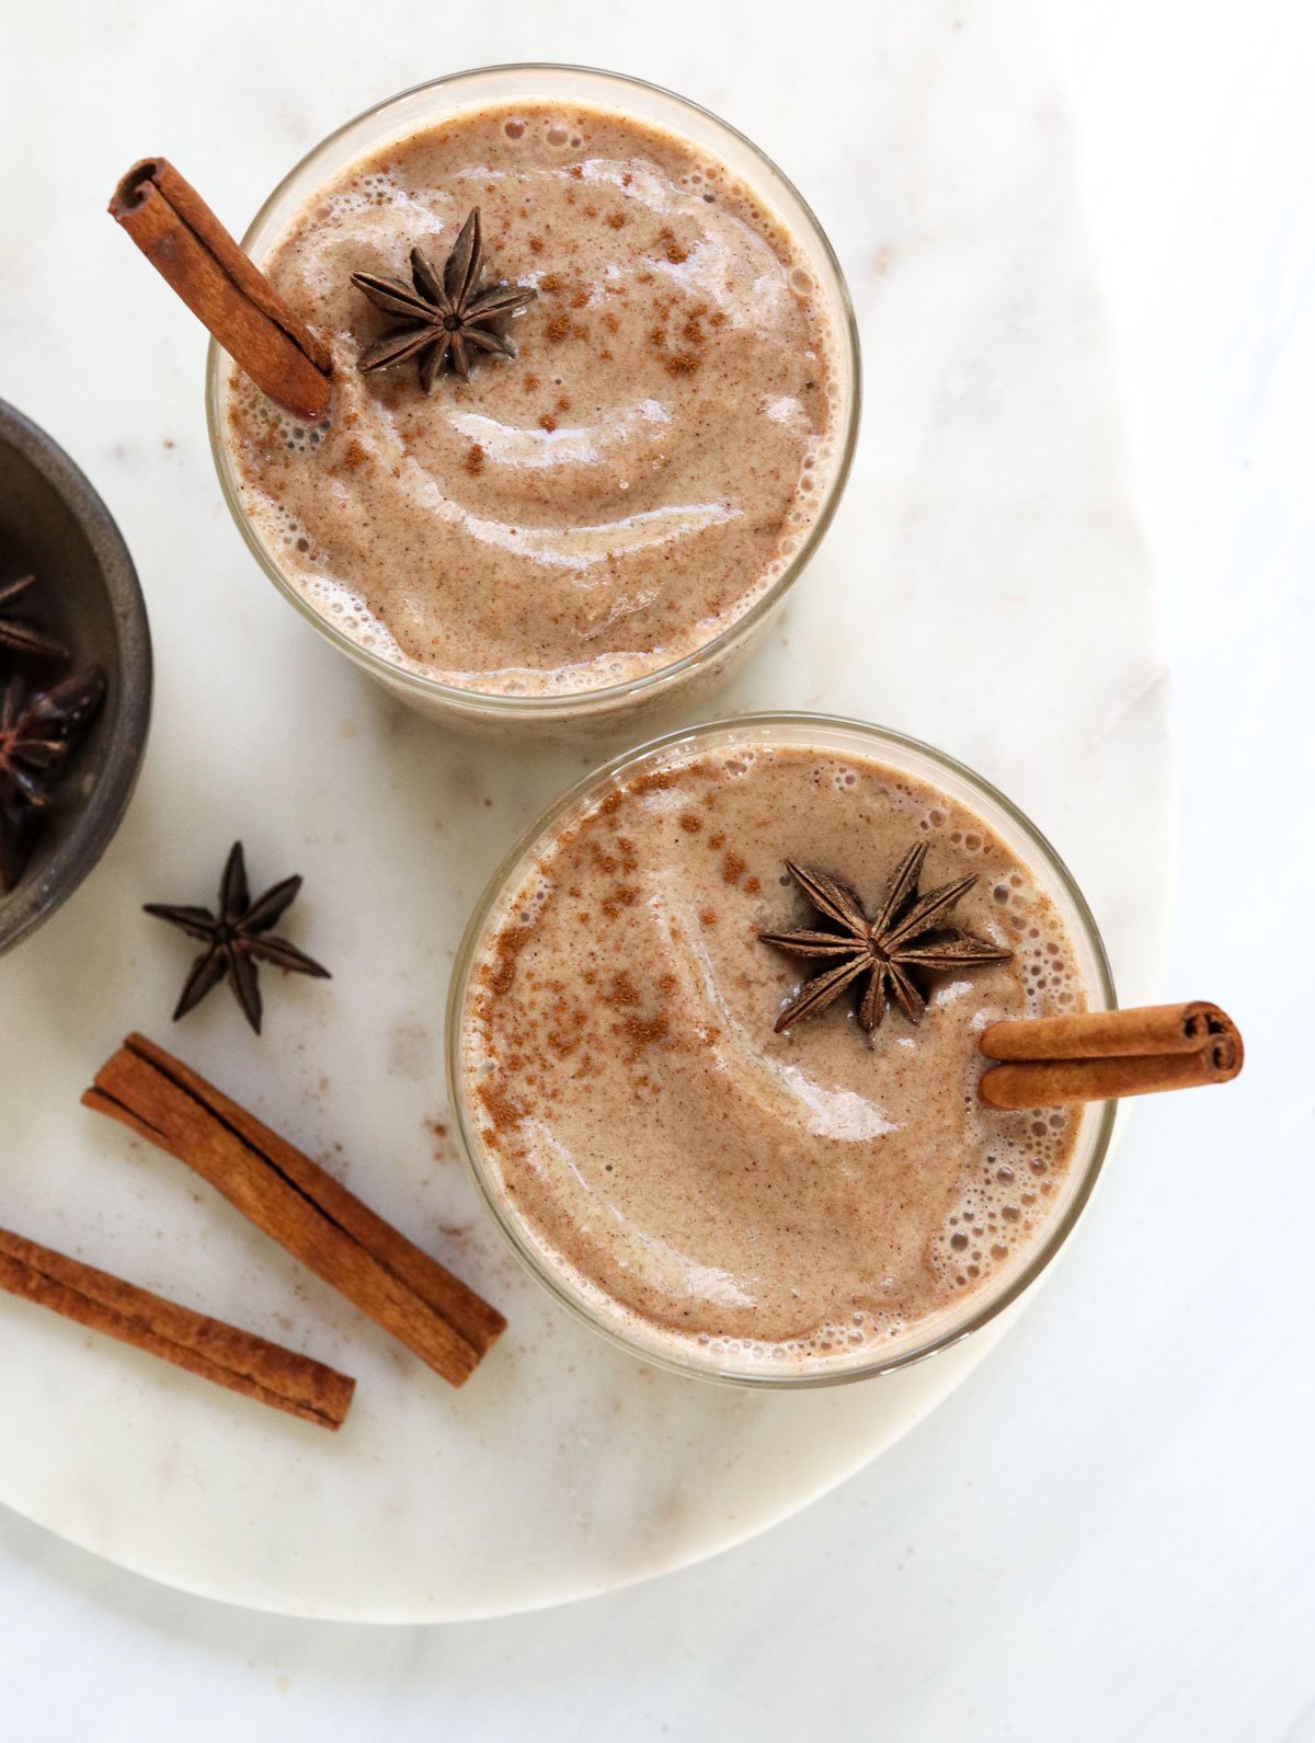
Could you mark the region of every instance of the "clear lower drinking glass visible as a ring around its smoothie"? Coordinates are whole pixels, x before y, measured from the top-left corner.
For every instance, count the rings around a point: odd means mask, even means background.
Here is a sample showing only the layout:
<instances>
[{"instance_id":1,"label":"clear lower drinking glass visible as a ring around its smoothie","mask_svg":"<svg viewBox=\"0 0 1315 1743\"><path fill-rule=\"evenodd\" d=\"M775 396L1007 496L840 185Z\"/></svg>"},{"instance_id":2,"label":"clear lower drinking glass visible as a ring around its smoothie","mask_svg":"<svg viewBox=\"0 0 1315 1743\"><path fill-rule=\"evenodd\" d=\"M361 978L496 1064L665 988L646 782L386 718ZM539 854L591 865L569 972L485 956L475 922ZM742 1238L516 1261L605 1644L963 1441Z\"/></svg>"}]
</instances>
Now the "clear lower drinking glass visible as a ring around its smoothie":
<instances>
[{"instance_id":1,"label":"clear lower drinking glass visible as a ring around its smoothie","mask_svg":"<svg viewBox=\"0 0 1315 1743\"><path fill-rule=\"evenodd\" d=\"M980 1292L935 1319L910 1328L907 1337L882 1344L881 1351L858 1349L851 1354L820 1356L811 1367L776 1370L750 1358L736 1365L717 1351L710 1351L706 1358L699 1358L696 1347L675 1353L658 1328L652 1328L652 1335L649 1335L649 1328L637 1316L624 1312L596 1285L572 1272L562 1255L537 1236L509 1201L509 1194L499 1182L497 1166L485 1152L466 1093L464 1056L469 1035L471 981L481 960L481 945L487 933L501 924L502 905L520 887L523 868L527 861L534 859L541 838L556 835L563 824L569 824L574 816L591 807L609 790L633 781L649 769L661 767L673 751L689 748L726 753L762 744L804 746L823 755L849 755L882 763L938 788L975 810L1032 870L1041 889L1053 901L1073 939L1090 1007L1111 1009L1114 1006L1114 985L1106 950L1073 875L1039 830L982 776L928 744L858 720L802 713L741 715L734 720L671 732L640 749L628 751L572 788L516 842L494 873L471 917L452 973L446 1016L448 1098L474 1182L502 1232L539 1281L595 1330L633 1354L645 1356L649 1361L680 1373L745 1386L832 1386L867 1379L874 1373L889 1373L957 1344L994 1319L1036 1281L1071 1234L1092 1194L1114 1126L1113 1102L1088 1103L1076 1110L1076 1147L1062 1187L1055 1192L1046 1224L1032 1246L1020 1251L1015 1262L1005 1265Z\"/></svg>"}]
</instances>

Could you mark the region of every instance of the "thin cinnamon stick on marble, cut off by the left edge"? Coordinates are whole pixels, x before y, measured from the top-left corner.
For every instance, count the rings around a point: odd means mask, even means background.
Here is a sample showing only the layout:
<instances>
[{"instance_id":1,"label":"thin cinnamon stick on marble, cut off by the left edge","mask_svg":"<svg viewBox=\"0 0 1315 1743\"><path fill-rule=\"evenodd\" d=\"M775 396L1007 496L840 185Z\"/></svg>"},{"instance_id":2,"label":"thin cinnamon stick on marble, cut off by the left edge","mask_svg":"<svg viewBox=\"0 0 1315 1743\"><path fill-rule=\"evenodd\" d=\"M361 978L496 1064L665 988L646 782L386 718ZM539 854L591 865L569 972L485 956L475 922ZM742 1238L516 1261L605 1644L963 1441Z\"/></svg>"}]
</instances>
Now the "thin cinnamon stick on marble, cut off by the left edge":
<instances>
[{"instance_id":1,"label":"thin cinnamon stick on marble, cut off by the left edge","mask_svg":"<svg viewBox=\"0 0 1315 1743\"><path fill-rule=\"evenodd\" d=\"M274 1410L338 1429L356 1380L0 1229L0 1290Z\"/></svg>"}]
</instances>

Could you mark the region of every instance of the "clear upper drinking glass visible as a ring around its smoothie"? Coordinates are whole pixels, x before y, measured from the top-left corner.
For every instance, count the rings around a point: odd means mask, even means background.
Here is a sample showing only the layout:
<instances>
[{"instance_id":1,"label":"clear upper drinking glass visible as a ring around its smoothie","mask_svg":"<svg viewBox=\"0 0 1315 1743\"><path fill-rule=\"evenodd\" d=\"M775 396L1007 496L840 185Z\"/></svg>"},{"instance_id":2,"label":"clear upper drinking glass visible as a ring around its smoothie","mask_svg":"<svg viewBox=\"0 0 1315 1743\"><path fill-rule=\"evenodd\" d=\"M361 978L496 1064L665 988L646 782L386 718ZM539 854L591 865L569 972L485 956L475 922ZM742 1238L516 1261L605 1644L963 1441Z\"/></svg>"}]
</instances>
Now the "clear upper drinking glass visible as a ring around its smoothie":
<instances>
[{"instance_id":1,"label":"clear upper drinking glass visible as a ring around its smoothie","mask_svg":"<svg viewBox=\"0 0 1315 1743\"><path fill-rule=\"evenodd\" d=\"M401 701L469 729L513 729L518 732L542 730L612 718L617 713L651 709L668 701L677 690L712 687L731 659L771 621L804 565L818 547L841 500L855 441L860 411L860 359L858 329L849 303L849 291L839 261L821 227L802 195L781 171L741 132L710 115L708 110L638 78L596 71L584 66L488 66L478 71L453 73L431 84L415 85L387 103L366 110L347 122L328 139L309 152L290 171L256 213L242 237L242 248L260 263L276 246L296 213L316 188L323 187L344 167L371 155L391 139L403 138L462 110L485 108L513 101L563 101L610 108L642 122L663 127L687 139L726 164L748 185L766 211L773 213L794 237L806 258L820 289L821 305L834 326L834 352L837 371L837 451L828 476L818 478L818 509L802 532L783 572L736 617L720 634L671 666L647 673L624 683L569 695L501 695L474 688L441 683L391 662L361 647L344 629L316 610L302 589L279 566L277 551L262 537L242 505L237 488L237 469L225 441L228 410L228 357L211 342L206 376L206 417L209 424L211 453L220 474L225 502L251 553L274 586L316 626L337 648L365 668Z\"/></svg>"}]
</instances>

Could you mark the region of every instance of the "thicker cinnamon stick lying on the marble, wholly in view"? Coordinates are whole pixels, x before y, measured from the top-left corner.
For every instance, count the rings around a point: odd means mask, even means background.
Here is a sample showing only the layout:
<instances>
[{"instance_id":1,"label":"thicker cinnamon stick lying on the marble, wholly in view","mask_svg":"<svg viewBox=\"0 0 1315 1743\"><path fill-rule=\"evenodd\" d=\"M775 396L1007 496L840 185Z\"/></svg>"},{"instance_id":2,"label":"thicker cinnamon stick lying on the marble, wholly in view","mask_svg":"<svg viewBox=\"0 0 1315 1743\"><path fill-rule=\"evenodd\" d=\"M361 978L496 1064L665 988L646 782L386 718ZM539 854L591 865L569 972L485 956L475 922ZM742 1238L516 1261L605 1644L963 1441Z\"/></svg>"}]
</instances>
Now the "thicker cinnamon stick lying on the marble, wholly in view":
<instances>
[{"instance_id":1,"label":"thicker cinnamon stick lying on the marble, wholly in view","mask_svg":"<svg viewBox=\"0 0 1315 1743\"><path fill-rule=\"evenodd\" d=\"M452 1386L506 1330L474 1290L145 1035L127 1037L82 1102L194 1168Z\"/></svg>"}]
</instances>

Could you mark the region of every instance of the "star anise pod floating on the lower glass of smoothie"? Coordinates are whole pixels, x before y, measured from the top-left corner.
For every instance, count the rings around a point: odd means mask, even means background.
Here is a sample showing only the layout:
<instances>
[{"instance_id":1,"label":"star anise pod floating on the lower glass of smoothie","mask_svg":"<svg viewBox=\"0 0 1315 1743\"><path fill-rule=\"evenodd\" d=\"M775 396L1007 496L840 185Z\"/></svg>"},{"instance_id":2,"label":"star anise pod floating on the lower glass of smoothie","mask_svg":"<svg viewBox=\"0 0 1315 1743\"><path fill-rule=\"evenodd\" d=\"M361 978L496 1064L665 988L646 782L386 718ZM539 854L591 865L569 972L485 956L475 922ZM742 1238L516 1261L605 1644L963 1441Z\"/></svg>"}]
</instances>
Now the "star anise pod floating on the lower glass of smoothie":
<instances>
[{"instance_id":1,"label":"star anise pod floating on the lower glass of smoothie","mask_svg":"<svg viewBox=\"0 0 1315 1743\"><path fill-rule=\"evenodd\" d=\"M1001 950L999 945L973 938L959 927L933 924L977 884L977 873L919 896L917 878L924 859L926 842L909 849L872 920L858 896L844 884L837 884L825 872L809 872L794 859L785 861L790 877L835 931L759 933L759 938L764 945L774 945L794 957L839 957L839 962L801 987L776 1018L776 1034L825 1011L846 987L865 974L869 981L858 1006L858 1021L869 1035L881 1025L889 999L910 1023L917 1023L926 1009L926 995L916 976L1010 960L1012 950Z\"/></svg>"}]
</instances>

